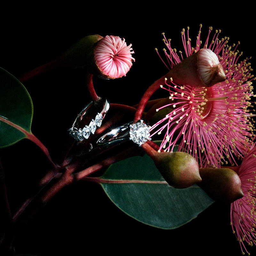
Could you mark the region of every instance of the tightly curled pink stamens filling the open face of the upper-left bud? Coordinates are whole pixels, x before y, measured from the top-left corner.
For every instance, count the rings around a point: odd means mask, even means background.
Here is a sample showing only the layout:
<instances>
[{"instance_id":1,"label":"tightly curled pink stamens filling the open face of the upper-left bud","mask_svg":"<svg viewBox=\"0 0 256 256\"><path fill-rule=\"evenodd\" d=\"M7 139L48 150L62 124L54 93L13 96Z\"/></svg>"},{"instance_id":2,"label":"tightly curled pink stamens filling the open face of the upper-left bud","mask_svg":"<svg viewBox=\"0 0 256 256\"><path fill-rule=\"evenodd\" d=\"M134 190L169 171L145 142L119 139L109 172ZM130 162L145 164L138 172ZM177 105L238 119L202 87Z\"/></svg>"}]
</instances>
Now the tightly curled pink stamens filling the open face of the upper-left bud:
<instances>
[{"instance_id":1,"label":"tightly curled pink stamens filling the open face of the upper-left bud","mask_svg":"<svg viewBox=\"0 0 256 256\"><path fill-rule=\"evenodd\" d=\"M132 67L132 44L126 44L125 40L118 36L105 36L94 50L94 59L103 76L108 79L126 76Z\"/></svg>"}]
</instances>

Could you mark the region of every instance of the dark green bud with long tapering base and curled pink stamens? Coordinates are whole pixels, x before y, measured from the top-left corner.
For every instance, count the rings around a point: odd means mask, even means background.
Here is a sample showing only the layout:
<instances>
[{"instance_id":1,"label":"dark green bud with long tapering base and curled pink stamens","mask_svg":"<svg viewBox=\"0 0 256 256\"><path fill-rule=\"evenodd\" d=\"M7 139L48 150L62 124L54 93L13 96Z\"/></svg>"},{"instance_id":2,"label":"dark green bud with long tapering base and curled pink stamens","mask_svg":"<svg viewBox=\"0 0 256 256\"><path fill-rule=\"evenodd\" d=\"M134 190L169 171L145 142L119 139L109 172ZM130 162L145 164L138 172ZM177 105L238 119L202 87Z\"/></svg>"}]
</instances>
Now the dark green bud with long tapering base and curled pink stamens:
<instances>
[{"instance_id":1,"label":"dark green bud with long tapering base and curled pink stamens","mask_svg":"<svg viewBox=\"0 0 256 256\"><path fill-rule=\"evenodd\" d=\"M104 79L126 76L132 66L132 44L119 36L90 35L80 39L59 58L35 68L19 78L20 82L56 68L85 68Z\"/></svg>"}]
</instances>

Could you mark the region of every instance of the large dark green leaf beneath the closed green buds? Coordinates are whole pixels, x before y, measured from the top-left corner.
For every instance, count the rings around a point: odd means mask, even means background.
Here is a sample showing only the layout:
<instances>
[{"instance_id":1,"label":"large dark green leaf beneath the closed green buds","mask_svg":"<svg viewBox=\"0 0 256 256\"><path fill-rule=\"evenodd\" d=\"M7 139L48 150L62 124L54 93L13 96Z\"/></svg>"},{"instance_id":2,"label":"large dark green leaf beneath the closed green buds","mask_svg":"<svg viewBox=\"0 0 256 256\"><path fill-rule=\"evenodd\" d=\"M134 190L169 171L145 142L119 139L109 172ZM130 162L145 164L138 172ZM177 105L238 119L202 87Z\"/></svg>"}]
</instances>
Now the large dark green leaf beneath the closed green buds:
<instances>
[{"instance_id":1,"label":"large dark green leaf beneath the closed green buds","mask_svg":"<svg viewBox=\"0 0 256 256\"><path fill-rule=\"evenodd\" d=\"M196 185L185 189L169 186L148 155L112 164L100 180L110 200L123 212L163 229L184 225L214 202Z\"/></svg>"}]
</instances>

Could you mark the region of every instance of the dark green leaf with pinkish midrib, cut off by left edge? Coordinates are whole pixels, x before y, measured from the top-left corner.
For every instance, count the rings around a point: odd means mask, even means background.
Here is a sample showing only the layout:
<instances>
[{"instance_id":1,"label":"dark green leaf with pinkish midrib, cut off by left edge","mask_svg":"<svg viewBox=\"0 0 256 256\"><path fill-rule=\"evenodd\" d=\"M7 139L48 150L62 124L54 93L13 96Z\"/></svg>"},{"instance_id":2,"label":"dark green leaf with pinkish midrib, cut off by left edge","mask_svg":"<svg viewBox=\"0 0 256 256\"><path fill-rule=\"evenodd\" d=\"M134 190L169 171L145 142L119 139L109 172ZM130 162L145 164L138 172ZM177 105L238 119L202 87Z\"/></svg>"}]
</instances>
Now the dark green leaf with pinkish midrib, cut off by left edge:
<instances>
[{"instance_id":1,"label":"dark green leaf with pinkish midrib, cut off by left edge","mask_svg":"<svg viewBox=\"0 0 256 256\"><path fill-rule=\"evenodd\" d=\"M0 68L0 148L8 147L31 133L33 104L17 78Z\"/></svg>"}]
</instances>

